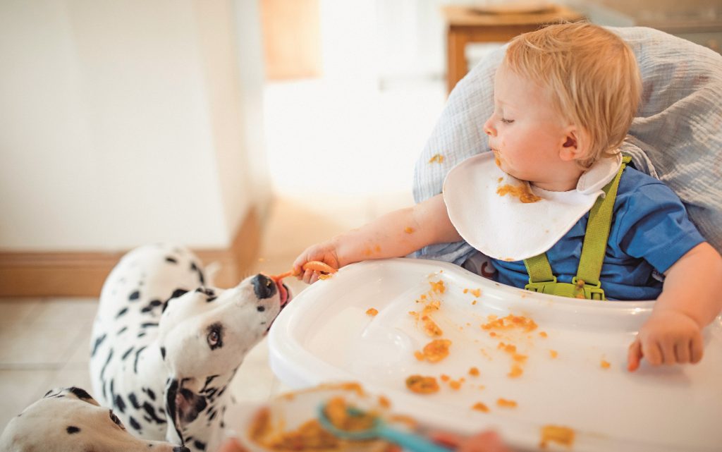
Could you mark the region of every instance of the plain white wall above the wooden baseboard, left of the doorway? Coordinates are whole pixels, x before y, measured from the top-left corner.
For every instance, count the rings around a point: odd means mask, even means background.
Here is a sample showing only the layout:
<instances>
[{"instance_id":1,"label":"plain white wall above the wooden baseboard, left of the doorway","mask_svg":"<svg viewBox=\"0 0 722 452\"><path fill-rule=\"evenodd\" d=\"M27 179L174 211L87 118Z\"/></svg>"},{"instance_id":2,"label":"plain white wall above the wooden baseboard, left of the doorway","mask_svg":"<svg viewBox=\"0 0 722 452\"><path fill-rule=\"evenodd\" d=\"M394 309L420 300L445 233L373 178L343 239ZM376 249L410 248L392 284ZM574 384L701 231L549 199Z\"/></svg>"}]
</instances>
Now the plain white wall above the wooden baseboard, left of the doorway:
<instances>
[{"instance_id":1,"label":"plain white wall above the wooden baseboard, left of the doorway","mask_svg":"<svg viewBox=\"0 0 722 452\"><path fill-rule=\"evenodd\" d=\"M239 18L230 0L1 1L0 248L227 246L267 196Z\"/></svg>"}]
</instances>

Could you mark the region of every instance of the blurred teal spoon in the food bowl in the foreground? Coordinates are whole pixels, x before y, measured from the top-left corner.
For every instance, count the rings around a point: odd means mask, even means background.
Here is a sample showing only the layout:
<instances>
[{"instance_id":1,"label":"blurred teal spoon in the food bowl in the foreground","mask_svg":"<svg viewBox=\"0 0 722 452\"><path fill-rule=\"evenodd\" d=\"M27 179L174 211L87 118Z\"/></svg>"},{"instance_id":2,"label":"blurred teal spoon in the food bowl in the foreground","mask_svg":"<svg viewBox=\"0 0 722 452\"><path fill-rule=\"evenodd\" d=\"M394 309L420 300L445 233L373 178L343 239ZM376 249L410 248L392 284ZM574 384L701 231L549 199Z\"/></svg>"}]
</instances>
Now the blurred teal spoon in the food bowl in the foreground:
<instances>
[{"instance_id":1,"label":"blurred teal spoon in the food bowl in the foreground","mask_svg":"<svg viewBox=\"0 0 722 452\"><path fill-rule=\"evenodd\" d=\"M347 412L352 416L363 416L365 413L360 409L348 408ZM406 433L401 430L396 430L383 422L379 417L375 417L373 426L367 430L355 430L349 432L348 430L342 430L331 423L329 417L326 416L326 404L321 404L318 407L318 422L321 423L326 431L336 436L336 438L343 438L347 440L371 440L374 438L381 438L384 440L391 441L391 443L398 444L404 449L412 452L450 452L452 449L448 449L439 446L436 443L432 443L426 438L422 438L414 433Z\"/></svg>"}]
</instances>

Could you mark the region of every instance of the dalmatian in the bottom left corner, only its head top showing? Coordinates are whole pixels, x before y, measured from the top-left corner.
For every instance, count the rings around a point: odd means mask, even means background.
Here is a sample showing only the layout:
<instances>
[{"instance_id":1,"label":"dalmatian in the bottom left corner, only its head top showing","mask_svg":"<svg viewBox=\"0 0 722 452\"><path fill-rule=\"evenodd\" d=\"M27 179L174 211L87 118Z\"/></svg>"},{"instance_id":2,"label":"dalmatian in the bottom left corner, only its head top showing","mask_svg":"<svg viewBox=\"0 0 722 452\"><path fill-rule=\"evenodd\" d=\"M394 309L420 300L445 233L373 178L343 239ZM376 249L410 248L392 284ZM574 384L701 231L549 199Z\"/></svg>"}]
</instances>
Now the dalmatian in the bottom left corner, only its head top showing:
<instances>
[{"instance_id":1,"label":"dalmatian in the bottom left corner, only its head top showing","mask_svg":"<svg viewBox=\"0 0 722 452\"><path fill-rule=\"evenodd\" d=\"M80 388L58 388L12 418L0 436L3 452L188 452L174 444L141 440Z\"/></svg>"}]
</instances>

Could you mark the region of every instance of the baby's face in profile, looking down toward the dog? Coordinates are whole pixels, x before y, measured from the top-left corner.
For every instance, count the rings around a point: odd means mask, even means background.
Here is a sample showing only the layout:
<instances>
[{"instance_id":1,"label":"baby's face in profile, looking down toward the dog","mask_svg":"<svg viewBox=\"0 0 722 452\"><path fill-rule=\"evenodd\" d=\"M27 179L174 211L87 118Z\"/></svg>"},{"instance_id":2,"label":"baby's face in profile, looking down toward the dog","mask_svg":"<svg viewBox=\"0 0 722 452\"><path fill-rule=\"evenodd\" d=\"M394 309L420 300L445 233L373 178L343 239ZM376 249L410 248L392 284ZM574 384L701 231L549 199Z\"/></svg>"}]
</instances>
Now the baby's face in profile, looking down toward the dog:
<instances>
[{"instance_id":1,"label":"baby's face in profile, looking down toward the dog","mask_svg":"<svg viewBox=\"0 0 722 452\"><path fill-rule=\"evenodd\" d=\"M494 82L494 113L484 123L497 165L510 175L554 189L562 172L567 127L534 82L502 64Z\"/></svg>"}]
</instances>

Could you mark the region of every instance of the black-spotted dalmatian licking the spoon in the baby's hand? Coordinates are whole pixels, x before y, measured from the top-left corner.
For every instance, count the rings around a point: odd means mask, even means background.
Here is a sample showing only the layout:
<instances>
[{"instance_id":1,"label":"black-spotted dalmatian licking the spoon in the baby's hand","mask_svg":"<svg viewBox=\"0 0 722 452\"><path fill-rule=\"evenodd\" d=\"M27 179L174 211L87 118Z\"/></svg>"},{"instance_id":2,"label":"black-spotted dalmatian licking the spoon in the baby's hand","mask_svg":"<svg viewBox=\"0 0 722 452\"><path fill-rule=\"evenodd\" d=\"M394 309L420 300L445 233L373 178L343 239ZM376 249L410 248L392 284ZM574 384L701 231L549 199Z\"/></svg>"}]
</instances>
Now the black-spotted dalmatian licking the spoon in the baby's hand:
<instances>
[{"instance_id":1,"label":"black-spotted dalmatian licking the spoon in the baby's hand","mask_svg":"<svg viewBox=\"0 0 722 452\"><path fill-rule=\"evenodd\" d=\"M93 392L140 438L215 451L231 402L227 386L288 300L287 287L263 274L218 289L206 285L190 251L136 248L100 293Z\"/></svg>"}]
</instances>

